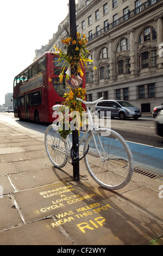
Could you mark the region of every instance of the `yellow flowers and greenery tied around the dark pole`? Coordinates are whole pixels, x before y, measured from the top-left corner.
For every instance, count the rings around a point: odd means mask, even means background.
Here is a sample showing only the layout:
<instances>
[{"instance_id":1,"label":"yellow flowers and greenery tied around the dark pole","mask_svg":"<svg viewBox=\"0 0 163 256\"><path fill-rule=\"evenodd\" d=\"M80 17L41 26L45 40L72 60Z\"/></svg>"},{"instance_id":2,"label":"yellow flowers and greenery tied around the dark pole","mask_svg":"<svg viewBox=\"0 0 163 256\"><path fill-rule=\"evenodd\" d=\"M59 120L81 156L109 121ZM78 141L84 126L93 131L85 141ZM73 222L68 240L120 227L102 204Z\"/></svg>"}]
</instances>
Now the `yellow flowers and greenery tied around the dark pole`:
<instances>
[{"instance_id":1,"label":"yellow flowers and greenery tied around the dark pole","mask_svg":"<svg viewBox=\"0 0 163 256\"><path fill-rule=\"evenodd\" d=\"M73 40L71 37L62 39L61 42L65 45L64 50L61 50L59 47L54 45L55 52L59 56L58 63L61 63L60 68L60 82L63 80L65 68L66 71L66 82L67 89L69 92L65 93L65 102L62 103L60 111L62 113L69 113L70 117L74 120L74 125L76 129L83 125L85 118L84 112L85 109L82 107L82 102L78 101L76 97L85 100L86 89L78 87L82 83L82 77L84 76L82 68L86 62L93 62L91 59L88 59L87 56L89 51L86 50L87 39L84 34L77 32L76 40ZM97 69L94 66L93 69ZM49 81L52 81L49 76ZM65 111L68 108L69 111ZM67 120L69 120L68 114L64 114L64 118L60 118L63 125L60 128L59 133L62 137L66 138L68 133L71 133L70 125L66 125Z\"/></svg>"}]
</instances>

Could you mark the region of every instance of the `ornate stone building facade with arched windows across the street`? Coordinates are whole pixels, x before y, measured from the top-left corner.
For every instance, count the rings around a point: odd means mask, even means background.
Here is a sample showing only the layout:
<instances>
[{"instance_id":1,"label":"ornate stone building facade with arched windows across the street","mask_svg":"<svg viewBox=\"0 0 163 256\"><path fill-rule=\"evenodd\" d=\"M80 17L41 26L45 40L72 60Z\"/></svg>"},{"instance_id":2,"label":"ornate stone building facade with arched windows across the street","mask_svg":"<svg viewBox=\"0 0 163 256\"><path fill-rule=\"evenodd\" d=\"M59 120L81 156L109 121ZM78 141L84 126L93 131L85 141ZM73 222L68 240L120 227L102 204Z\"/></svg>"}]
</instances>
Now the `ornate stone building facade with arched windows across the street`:
<instances>
[{"instance_id":1,"label":"ornate stone building facade with arched windows across the street","mask_svg":"<svg viewBox=\"0 0 163 256\"><path fill-rule=\"evenodd\" d=\"M163 0L78 0L77 30L88 39L87 99L127 100L142 112L163 104ZM68 15L44 52L62 47Z\"/></svg>"}]
</instances>

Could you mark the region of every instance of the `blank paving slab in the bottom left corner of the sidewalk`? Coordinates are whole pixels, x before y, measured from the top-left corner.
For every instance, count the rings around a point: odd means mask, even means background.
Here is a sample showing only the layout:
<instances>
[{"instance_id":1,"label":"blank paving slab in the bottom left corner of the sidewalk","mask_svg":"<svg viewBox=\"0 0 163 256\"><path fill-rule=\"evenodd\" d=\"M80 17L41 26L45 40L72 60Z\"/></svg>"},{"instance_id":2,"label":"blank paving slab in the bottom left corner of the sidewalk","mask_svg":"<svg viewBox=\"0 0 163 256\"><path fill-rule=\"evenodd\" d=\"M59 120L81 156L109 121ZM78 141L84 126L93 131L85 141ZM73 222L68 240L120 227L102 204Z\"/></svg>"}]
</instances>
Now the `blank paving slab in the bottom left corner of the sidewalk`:
<instances>
[{"instance_id":1,"label":"blank paving slab in the bottom left corner of the sidewalk","mask_svg":"<svg viewBox=\"0 0 163 256\"><path fill-rule=\"evenodd\" d=\"M0 245L72 245L52 223L53 220L42 220L0 231Z\"/></svg>"}]
</instances>

